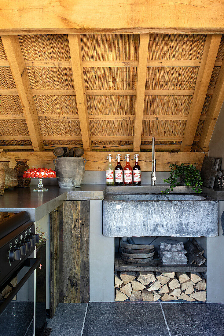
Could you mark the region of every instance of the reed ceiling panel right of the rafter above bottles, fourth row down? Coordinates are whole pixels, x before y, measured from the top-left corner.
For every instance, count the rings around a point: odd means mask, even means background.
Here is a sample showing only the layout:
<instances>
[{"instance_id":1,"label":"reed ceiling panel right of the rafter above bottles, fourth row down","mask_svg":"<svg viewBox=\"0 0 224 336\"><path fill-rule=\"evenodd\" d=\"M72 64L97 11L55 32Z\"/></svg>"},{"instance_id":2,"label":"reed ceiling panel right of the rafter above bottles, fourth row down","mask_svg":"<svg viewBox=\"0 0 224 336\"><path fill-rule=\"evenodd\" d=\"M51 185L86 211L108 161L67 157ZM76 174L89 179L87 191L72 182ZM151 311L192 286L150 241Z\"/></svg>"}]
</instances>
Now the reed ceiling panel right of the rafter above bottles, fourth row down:
<instances>
[{"instance_id":1,"label":"reed ceiling panel right of the rafter above bottles, fourth row down","mask_svg":"<svg viewBox=\"0 0 224 336\"><path fill-rule=\"evenodd\" d=\"M186 120L143 120L142 136L183 136Z\"/></svg>"}]
</instances>

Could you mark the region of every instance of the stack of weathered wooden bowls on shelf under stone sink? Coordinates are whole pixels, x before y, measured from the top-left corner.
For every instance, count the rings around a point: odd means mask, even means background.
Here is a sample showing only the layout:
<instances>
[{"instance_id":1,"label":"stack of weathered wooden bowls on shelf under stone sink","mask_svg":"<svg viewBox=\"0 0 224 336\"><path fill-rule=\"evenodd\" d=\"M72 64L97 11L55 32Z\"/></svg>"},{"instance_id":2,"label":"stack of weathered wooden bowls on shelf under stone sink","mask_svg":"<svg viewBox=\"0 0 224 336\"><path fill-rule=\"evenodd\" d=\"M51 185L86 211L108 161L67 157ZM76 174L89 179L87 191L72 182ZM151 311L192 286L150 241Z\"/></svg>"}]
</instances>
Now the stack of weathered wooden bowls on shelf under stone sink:
<instances>
[{"instance_id":1,"label":"stack of weathered wooden bowls on shelf under stone sink","mask_svg":"<svg viewBox=\"0 0 224 336\"><path fill-rule=\"evenodd\" d=\"M149 262L154 253L154 245L121 244L121 258L127 262Z\"/></svg>"}]
</instances>

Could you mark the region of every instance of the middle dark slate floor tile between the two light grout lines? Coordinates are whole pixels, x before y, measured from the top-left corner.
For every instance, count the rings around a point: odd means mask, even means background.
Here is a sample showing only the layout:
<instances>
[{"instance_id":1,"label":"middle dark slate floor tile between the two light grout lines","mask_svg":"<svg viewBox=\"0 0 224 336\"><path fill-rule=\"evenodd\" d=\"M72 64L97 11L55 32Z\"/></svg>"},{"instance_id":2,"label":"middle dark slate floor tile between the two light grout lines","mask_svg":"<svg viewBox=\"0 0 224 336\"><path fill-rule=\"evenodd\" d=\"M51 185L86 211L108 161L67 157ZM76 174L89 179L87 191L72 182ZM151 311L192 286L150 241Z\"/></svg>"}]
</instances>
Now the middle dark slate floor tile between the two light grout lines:
<instances>
[{"instance_id":1,"label":"middle dark slate floor tile between the two light grout lines","mask_svg":"<svg viewBox=\"0 0 224 336\"><path fill-rule=\"evenodd\" d=\"M159 303L89 303L82 336L169 336Z\"/></svg>"}]
</instances>

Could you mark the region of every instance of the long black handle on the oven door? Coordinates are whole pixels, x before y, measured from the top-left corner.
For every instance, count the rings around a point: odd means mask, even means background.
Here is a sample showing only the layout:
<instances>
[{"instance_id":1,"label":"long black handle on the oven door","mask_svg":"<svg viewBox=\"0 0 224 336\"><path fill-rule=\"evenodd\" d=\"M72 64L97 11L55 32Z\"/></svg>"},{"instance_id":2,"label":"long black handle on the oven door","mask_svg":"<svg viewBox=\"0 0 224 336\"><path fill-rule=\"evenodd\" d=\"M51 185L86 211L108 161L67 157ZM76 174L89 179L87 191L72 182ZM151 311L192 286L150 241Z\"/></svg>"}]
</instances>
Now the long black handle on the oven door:
<instances>
[{"instance_id":1,"label":"long black handle on the oven door","mask_svg":"<svg viewBox=\"0 0 224 336\"><path fill-rule=\"evenodd\" d=\"M29 277L32 275L32 273L35 271L35 269L40 265L41 262L41 258L36 259L36 258L29 258L28 259L31 264L33 263L33 265L31 266L31 268L28 270L28 272L25 274L25 276L20 280L20 282L16 285L16 287L14 287L14 289L11 291L11 293L9 294L9 296L7 296L7 298L5 299L5 301L3 301L3 303L0 305L0 315L1 313L5 310L5 308L7 307L7 305L12 301L13 297L18 293L18 291L23 287L23 285L25 284L25 282L29 279Z\"/></svg>"}]
</instances>

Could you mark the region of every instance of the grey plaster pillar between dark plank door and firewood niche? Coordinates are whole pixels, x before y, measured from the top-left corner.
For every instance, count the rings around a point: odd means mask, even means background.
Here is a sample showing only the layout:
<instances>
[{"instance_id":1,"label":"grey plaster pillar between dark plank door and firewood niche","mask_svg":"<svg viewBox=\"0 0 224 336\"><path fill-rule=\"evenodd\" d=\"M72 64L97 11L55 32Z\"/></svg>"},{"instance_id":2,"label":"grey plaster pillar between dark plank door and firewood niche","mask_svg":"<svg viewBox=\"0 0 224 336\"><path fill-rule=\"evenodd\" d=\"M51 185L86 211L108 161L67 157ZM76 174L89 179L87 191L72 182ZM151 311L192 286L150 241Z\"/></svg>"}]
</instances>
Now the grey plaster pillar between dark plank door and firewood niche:
<instances>
[{"instance_id":1,"label":"grey plaster pillar between dark plank door and firewood niche","mask_svg":"<svg viewBox=\"0 0 224 336\"><path fill-rule=\"evenodd\" d=\"M114 301L114 238L102 233L102 200L89 201L89 301Z\"/></svg>"}]
</instances>

